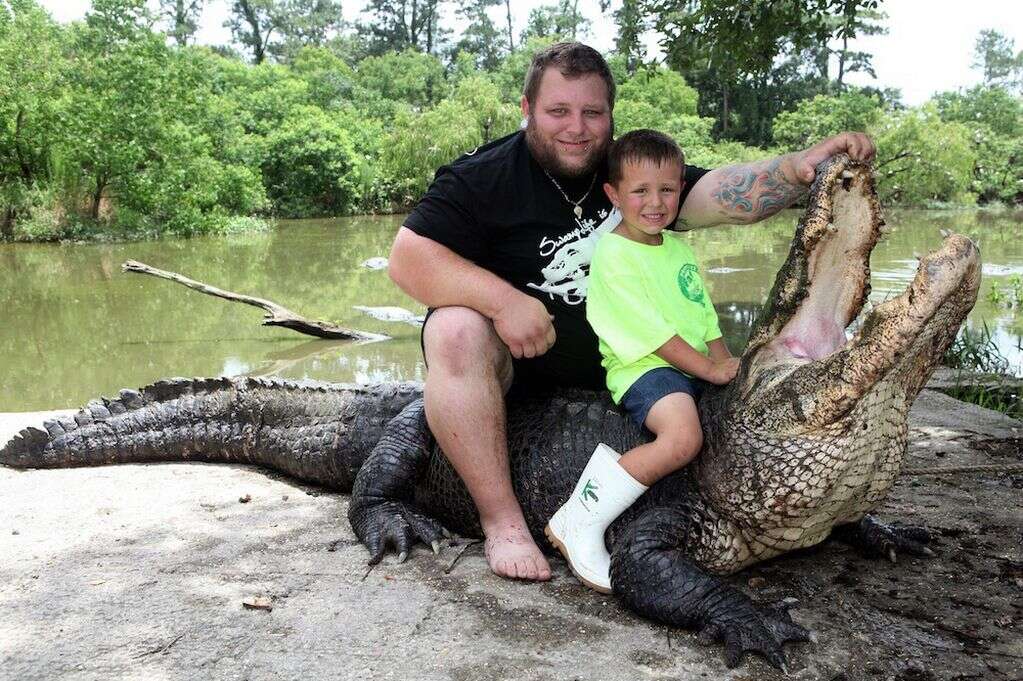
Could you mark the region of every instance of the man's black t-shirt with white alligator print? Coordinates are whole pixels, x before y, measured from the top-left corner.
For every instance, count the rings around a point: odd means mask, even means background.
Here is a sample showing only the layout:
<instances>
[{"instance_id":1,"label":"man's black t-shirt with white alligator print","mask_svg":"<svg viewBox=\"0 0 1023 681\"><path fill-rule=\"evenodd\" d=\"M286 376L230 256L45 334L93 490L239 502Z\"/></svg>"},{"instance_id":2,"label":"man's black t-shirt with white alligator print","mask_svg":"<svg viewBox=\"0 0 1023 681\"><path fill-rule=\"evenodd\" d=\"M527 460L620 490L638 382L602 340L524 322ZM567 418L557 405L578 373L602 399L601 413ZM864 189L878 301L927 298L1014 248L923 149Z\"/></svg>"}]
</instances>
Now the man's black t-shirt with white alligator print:
<instances>
[{"instance_id":1,"label":"man's black t-shirt with white alligator print","mask_svg":"<svg viewBox=\"0 0 1023 681\"><path fill-rule=\"evenodd\" d=\"M686 166L690 189L708 171ZM558 339L542 357L545 381L604 387L596 336L586 322L586 283L596 239L614 229L621 213L604 192L607 167L595 177L558 184L533 158L524 132L466 153L437 171L405 227L493 272L541 301L553 316ZM587 193L588 190L588 193ZM640 311L637 311L640 312ZM517 365L517 379L528 366Z\"/></svg>"}]
</instances>

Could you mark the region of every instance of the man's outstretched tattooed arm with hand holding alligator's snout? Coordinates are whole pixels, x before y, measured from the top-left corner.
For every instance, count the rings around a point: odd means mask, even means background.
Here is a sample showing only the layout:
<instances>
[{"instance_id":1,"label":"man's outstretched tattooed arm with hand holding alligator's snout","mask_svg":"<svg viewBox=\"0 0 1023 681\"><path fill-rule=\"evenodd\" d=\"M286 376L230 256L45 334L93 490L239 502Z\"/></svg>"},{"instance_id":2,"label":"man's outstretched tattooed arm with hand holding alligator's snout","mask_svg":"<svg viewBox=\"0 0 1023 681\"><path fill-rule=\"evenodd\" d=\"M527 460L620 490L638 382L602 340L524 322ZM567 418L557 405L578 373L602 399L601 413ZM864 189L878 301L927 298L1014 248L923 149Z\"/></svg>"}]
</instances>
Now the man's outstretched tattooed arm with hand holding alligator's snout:
<instances>
[{"instance_id":1,"label":"man's outstretched tattooed arm with hand holding alligator's snout","mask_svg":"<svg viewBox=\"0 0 1023 681\"><path fill-rule=\"evenodd\" d=\"M679 212L678 226L695 229L758 222L805 195L821 161L836 153L870 161L874 151L874 142L866 135L842 133L803 151L718 168L693 187Z\"/></svg>"}]
</instances>

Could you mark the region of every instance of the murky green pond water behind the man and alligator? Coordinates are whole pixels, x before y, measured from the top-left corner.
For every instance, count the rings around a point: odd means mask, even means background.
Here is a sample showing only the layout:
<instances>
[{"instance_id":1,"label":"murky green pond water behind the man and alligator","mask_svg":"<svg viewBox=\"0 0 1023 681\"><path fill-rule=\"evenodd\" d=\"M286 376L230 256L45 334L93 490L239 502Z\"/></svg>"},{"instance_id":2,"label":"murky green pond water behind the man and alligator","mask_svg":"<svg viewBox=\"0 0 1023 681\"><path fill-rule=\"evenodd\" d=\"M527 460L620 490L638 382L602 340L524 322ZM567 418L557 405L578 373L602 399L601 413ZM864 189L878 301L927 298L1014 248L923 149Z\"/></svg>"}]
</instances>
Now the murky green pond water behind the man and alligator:
<instances>
[{"instance_id":1,"label":"murky green pond water behind the man and alligator","mask_svg":"<svg viewBox=\"0 0 1023 681\"><path fill-rule=\"evenodd\" d=\"M785 259L798 214L752 227L691 235L732 350ZM875 251L874 292L900 291L915 255L940 242L940 229L980 241L982 320L1023 373L1023 312L988 300L991 284L1023 274L1019 217L975 212L891 212L895 231ZM361 266L387 256L401 216L281 223L268 234L104 245L0 244L0 411L75 407L166 376L279 374L339 381L421 379L418 328L377 321L353 306L421 313L386 272ZM273 300L310 318L388 333L366 345L315 340L263 327L262 312L138 274L140 260L193 279Z\"/></svg>"}]
</instances>

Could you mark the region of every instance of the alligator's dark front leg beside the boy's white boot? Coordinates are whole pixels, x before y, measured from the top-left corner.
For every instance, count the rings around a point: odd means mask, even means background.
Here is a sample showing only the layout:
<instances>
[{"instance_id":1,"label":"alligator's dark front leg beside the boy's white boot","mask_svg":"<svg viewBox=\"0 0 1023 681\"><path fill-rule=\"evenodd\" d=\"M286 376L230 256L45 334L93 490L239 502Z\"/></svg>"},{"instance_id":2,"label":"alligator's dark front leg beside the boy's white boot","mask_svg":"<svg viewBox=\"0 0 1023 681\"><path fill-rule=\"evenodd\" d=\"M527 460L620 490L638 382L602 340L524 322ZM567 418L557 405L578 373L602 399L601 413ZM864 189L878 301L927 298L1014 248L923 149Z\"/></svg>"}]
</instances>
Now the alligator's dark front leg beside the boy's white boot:
<instances>
[{"instance_id":1,"label":"alligator's dark front leg beside the boy's white boot","mask_svg":"<svg viewBox=\"0 0 1023 681\"><path fill-rule=\"evenodd\" d=\"M756 652L785 670L785 643L809 640L809 632L792 621L788 606L756 603L694 564L682 548L688 531L700 531L692 517L655 506L617 533L611 556L615 594L639 615L699 631L703 643L723 641L729 668Z\"/></svg>"}]
</instances>

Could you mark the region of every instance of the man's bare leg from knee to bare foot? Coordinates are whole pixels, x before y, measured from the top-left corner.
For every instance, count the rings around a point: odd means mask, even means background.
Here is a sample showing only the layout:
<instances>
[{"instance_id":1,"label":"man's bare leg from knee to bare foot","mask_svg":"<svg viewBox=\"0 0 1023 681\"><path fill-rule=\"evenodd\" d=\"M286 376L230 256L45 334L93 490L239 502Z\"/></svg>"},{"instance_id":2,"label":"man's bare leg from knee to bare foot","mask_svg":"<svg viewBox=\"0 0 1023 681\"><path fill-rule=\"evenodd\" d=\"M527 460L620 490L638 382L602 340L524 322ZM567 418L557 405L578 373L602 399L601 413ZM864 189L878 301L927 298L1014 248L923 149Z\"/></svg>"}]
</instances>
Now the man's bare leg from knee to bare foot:
<instances>
[{"instance_id":1,"label":"man's bare leg from knee to bare foot","mask_svg":"<svg viewBox=\"0 0 1023 681\"><path fill-rule=\"evenodd\" d=\"M514 579L550 579L511 490L504 414L511 355L490 320L469 308L434 312L422 339L427 422L476 502L490 570Z\"/></svg>"}]
</instances>

